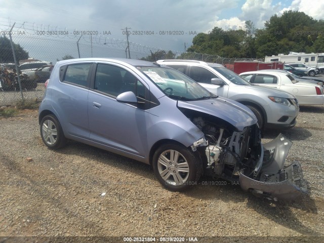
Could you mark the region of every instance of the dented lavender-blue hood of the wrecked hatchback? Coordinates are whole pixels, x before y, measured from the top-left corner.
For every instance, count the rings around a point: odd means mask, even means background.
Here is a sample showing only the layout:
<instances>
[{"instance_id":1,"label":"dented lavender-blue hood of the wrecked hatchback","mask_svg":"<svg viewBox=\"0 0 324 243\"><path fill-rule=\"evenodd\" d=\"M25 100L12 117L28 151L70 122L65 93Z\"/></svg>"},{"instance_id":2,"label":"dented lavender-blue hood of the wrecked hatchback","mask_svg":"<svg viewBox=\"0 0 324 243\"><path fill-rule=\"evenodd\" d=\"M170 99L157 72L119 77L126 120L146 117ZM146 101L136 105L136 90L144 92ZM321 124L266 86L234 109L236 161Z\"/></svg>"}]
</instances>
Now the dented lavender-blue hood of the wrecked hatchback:
<instances>
[{"instance_id":1,"label":"dented lavender-blue hood of the wrecked hatchback","mask_svg":"<svg viewBox=\"0 0 324 243\"><path fill-rule=\"evenodd\" d=\"M177 106L219 117L230 123L239 131L257 123L256 116L248 107L226 98L195 101L179 100Z\"/></svg>"}]
</instances>

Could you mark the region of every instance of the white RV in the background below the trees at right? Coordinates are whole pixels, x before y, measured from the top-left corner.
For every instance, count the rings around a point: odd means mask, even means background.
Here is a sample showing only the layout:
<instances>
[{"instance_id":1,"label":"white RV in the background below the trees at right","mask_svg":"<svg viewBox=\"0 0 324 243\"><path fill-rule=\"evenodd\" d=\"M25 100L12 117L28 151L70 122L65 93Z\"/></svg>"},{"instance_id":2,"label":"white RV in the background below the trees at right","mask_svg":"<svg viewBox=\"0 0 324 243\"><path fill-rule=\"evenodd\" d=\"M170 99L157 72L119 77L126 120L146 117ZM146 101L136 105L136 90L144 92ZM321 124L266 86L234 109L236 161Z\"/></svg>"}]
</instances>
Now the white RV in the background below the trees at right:
<instances>
[{"instance_id":1,"label":"white RV in the background below the trees at right","mask_svg":"<svg viewBox=\"0 0 324 243\"><path fill-rule=\"evenodd\" d=\"M280 61L285 63L303 63L309 67L319 68L320 72L324 72L324 53L304 53L304 52L290 52L288 55L278 54L266 56L265 62Z\"/></svg>"}]
</instances>

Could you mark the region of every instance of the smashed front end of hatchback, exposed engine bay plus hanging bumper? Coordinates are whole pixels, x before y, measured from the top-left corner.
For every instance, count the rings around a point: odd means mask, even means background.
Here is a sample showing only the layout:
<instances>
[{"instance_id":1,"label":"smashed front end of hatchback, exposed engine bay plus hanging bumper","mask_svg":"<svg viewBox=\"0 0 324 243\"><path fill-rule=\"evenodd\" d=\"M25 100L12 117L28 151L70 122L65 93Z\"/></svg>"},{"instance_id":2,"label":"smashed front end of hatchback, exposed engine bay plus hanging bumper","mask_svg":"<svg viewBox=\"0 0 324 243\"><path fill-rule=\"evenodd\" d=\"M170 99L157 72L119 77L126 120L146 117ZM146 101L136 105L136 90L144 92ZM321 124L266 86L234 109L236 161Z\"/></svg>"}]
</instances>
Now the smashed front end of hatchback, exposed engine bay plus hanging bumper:
<instances>
[{"instance_id":1,"label":"smashed front end of hatchback, exposed engine bay plus hanging bumper","mask_svg":"<svg viewBox=\"0 0 324 243\"><path fill-rule=\"evenodd\" d=\"M254 195L293 199L307 192L298 161L284 167L292 142L284 135L262 145L256 124L243 131L208 117L189 117L204 134L207 146L197 147L204 160L204 173L240 184Z\"/></svg>"}]
</instances>

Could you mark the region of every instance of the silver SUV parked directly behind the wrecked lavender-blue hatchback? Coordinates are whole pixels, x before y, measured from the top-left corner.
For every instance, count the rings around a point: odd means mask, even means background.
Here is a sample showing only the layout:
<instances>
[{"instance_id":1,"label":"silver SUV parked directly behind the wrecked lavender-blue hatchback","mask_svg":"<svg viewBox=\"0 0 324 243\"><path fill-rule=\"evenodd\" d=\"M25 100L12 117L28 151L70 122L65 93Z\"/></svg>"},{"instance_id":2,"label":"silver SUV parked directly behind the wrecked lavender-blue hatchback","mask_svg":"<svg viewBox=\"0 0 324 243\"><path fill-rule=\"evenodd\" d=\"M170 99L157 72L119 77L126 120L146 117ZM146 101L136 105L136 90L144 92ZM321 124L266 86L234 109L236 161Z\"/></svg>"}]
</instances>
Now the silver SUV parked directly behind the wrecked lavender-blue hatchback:
<instances>
[{"instance_id":1,"label":"silver SUV parked directly behind the wrecked lavender-blue hatchback","mask_svg":"<svg viewBox=\"0 0 324 243\"><path fill-rule=\"evenodd\" d=\"M191 77L215 95L248 106L261 129L288 129L296 125L299 106L294 95L277 89L251 85L226 67L192 60L159 60Z\"/></svg>"}]
</instances>

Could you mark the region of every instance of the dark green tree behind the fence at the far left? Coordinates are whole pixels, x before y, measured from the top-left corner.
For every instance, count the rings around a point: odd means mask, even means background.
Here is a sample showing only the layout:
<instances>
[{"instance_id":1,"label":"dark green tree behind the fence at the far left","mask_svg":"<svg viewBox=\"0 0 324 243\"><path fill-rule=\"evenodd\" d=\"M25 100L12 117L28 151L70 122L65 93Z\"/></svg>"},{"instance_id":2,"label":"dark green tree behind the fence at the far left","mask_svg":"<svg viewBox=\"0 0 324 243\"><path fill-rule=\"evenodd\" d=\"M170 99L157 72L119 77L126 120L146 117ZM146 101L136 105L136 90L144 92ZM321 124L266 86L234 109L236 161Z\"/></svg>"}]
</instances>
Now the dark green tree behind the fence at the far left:
<instances>
[{"instance_id":1,"label":"dark green tree behind the fence at the far left","mask_svg":"<svg viewBox=\"0 0 324 243\"><path fill-rule=\"evenodd\" d=\"M29 55L19 44L13 43L16 59L19 62L20 60L28 59ZM0 36L0 62L2 63L13 63L14 56L11 49L10 39L5 35Z\"/></svg>"}]
</instances>

